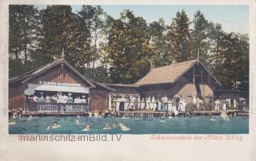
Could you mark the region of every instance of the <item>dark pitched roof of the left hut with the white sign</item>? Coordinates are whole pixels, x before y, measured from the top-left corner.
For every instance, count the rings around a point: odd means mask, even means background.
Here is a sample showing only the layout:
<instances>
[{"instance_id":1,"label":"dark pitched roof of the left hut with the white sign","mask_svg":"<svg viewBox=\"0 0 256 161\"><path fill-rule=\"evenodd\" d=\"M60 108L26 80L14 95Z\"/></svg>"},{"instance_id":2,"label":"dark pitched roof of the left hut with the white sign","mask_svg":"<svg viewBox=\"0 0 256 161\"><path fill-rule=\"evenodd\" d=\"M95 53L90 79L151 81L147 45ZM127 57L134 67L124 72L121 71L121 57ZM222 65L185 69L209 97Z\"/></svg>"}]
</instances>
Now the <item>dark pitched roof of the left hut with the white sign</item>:
<instances>
[{"instance_id":1,"label":"dark pitched roof of the left hut with the white sign","mask_svg":"<svg viewBox=\"0 0 256 161\"><path fill-rule=\"evenodd\" d=\"M113 88L107 87L104 84L100 84L98 82L91 81L90 79L84 77L81 73L78 72L77 69L74 69L70 63L68 63L65 59L59 59L57 61L52 61L46 65L43 65L42 67L39 67L38 69L31 70L30 72L23 73L21 75L18 75L16 77L12 77L9 79L9 83L14 82L14 81L22 81L22 83L25 83L26 81L30 81L34 77L37 77L38 75L45 73L46 71L53 69L55 66L59 64L65 64L68 66L74 73L78 75L78 77L82 78L82 80L86 81L88 84L90 84L91 87L96 88L95 84L98 86L101 86L102 88L106 88L107 90L114 91Z\"/></svg>"}]
</instances>

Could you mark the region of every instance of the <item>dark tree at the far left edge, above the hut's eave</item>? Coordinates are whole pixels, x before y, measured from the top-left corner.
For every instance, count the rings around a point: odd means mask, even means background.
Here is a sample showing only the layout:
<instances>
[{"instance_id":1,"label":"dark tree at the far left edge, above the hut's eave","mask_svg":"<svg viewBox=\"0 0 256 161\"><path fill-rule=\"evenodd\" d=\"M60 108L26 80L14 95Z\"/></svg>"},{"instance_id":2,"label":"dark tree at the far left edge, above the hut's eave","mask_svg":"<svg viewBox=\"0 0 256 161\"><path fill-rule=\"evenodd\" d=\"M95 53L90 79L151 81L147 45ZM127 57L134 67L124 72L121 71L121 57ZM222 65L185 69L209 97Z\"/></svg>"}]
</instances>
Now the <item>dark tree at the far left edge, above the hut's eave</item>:
<instances>
[{"instance_id":1,"label":"dark tree at the far left edge, above the hut's eave","mask_svg":"<svg viewBox=\"0 0 256 161\"><path fill-rule=\"evenodd\" d=\"M31 54L38 46L38 10L34 6L9 6L10 77L34 68Z\"/></svg>"}]
</instances>

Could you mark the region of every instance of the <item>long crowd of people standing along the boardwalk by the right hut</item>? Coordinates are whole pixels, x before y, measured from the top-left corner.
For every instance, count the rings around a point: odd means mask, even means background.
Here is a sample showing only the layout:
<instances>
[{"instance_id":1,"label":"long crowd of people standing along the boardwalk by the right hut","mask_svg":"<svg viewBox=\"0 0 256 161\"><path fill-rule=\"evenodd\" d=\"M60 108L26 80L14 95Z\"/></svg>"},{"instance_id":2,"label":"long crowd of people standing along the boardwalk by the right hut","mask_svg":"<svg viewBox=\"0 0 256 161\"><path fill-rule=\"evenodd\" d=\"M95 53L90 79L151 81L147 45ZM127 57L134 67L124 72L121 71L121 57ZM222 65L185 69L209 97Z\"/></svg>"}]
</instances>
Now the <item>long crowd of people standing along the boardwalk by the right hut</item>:
<instances>
[{"instance_id":1,"label":"long crowd of people standing along the boardwalk by the right hut","mask_svg":"<svg viewBox=\"0 0 256 161\"><path fill-rule=\"evenodd\" d=\"M236 99L215 99L205 98L202 100L198 96L193 96L192 101L186 101L182 96L174 96L168 98L156 98L155 96L143 97L142 100L136 99L134 96L115 96L112 101L112 108L116 111L127 110L150 110L150 111L173 111L173 112L186 112L186 111L227 111L229 109L238 109L238 104L242 106L242 111L246 111L247 105L245 101Z\"/></svg>"}]
</instances>

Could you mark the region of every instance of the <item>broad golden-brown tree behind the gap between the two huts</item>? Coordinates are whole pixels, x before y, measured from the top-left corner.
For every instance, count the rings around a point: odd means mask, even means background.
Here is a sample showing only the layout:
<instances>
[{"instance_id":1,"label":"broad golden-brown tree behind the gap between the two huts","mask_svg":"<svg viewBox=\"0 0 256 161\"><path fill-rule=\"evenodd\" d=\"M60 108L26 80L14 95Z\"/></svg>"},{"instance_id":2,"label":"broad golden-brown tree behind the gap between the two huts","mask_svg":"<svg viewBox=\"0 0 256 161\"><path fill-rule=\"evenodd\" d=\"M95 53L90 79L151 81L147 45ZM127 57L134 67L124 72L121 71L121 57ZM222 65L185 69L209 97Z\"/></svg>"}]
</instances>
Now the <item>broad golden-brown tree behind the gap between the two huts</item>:
<instances>
[{"instance_id":1,"label":"broad golden-brown tree behind the gap between the two huts","mask_svg":"<svg viewBox=\"0 0 256 161\"><path fill-rule=\"evenodd\" d=\"M124 10L121 18L110 19L109 24L110 79L114 83L134 83L150 70L153 52L146 21Z\"/></svg>"}]
</instances>

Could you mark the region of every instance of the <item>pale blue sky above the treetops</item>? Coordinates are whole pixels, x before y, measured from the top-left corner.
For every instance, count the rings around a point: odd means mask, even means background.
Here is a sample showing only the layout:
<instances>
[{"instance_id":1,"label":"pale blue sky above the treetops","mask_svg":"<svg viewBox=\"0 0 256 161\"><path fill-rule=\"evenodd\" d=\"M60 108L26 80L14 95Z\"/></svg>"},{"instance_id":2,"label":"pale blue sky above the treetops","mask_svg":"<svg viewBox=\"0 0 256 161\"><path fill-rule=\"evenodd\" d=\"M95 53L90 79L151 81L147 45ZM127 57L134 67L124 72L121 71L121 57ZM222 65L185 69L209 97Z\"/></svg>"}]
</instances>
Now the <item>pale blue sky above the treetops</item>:
<instances>
[{"instance_id":1,"label":"pale blue sky above the treetops","mask_svg":"<svg viewBox=\"0 0 256 161\"><path fill-rule=\"evenodd\" d=\"M39 9L45 6L38 6ZM81 5L71 6L73 12L81 9ZM122 10L132 10L135 16L146 19L146 22L163 18L166 25L178 11L185 10L193 20L194 14L200 10L205 18L222 24L224 31L230 33L249 33L249 6L247 5L102 5L102 9L113 18L119 18Z\"/></svg>"}]
</instances>

